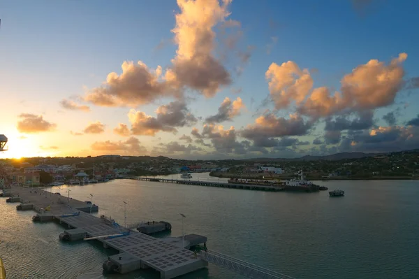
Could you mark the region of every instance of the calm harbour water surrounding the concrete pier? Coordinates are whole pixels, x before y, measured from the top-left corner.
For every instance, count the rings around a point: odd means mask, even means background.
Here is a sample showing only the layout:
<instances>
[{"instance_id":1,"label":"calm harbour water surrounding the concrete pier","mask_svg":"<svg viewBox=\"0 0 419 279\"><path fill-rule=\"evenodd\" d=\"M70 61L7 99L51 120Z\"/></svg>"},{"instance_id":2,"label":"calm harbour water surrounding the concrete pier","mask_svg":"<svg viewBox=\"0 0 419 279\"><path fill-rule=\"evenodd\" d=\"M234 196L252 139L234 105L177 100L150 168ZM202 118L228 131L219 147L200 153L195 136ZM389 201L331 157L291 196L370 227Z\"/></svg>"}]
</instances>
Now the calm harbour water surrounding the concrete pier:
<instances>
[{"instance_id":1,"label":"calm harbour water surrounding the concrete pier","mask_svg":"<svg viewBox=\"0 0 419 279\"><path fill-rule=\"evenodd\" d=\"M193 176L218 180L206 173ZM71 196L87 200L94 194L98 215L111 215L121 224L126 201L127 222L166 220L172 236L182 234L179 213L184 213L185 233L207 236L209 249L295 278L419 278L417 181L321 184L344 189L346 196L134 180L72 186ZM0 199L0 257L8 278L159 278L153 271L103 276L102 263L115 251L98 242L61 243L64 227L33 223L34 212L17 212L16 205ZM242 277L210 264L182 278Z\"/></svg>"}]
</instances>

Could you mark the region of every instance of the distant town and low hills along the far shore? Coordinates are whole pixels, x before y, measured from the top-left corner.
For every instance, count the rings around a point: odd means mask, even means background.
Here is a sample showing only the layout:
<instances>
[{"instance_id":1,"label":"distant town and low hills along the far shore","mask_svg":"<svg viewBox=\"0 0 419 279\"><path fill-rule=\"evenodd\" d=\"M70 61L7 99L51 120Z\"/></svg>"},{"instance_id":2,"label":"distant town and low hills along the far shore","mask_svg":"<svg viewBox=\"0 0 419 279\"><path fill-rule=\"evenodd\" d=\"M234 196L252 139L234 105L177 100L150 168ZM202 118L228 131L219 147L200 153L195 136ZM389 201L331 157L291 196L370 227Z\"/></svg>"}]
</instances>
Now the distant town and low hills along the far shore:
<instances>
[{"instance_id":1,"label":"distant town and low hills along the far shore","mask_svg":"<svg viewBox=\"0 0 419 279\"><path fill-rule=\"evenodd\" d=\"M385 154L338 153L299 159L182 160L168 157L36 157L0 159L0 184L45 186L103 182L126 176L209 172L224 178L289 179L303 171L310 180L418 179L419 150Z\"/></svg>"}]
</instances>

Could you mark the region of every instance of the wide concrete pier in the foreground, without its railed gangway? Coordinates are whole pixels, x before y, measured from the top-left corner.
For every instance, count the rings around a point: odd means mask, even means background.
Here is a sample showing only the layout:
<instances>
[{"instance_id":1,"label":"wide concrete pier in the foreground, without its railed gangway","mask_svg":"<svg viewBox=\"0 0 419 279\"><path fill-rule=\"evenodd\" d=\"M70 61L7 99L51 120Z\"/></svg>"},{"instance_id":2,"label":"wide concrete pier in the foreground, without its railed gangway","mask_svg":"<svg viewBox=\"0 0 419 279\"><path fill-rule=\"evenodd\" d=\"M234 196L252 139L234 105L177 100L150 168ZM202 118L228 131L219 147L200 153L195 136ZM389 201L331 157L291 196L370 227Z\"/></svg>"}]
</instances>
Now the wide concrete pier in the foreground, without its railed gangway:
<instances>
[{"instance_id":1,"label":"wide concrete pier in the foreground, without its railed gangway","mask_svg":"<svg viewBox=\"0 0 419 279\"><path fill-rule=\"evenodd\" d=\"M90 210L89 204L41 189L13 187L10 192L13 200L18 198L22 202L20 206L31 205L38 212L34 219L41 222L56 220L68 227L59 236L61 240L94 238L101 241L105 248L119 251L103 264L103 269L107 271L128 273L136 269L154 269L160 273L160 278L170 279L207 266L205 260L184 248L191 246L186 239L182 247L179 238L165 241L131 231L115 222L85 213Z\"/></svg>"}]
</instances>

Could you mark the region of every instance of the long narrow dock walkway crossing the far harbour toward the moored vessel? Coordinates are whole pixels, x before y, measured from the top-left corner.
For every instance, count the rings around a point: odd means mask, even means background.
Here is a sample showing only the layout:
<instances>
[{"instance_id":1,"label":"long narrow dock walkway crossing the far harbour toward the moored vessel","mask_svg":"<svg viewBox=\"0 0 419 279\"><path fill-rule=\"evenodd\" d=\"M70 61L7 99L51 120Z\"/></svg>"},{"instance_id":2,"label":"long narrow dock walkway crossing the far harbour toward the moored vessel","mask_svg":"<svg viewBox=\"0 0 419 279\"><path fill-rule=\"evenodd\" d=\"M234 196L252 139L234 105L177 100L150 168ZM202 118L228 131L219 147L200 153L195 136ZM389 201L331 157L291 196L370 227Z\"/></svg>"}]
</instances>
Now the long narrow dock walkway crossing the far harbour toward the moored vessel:
<instances>
[{"instance_id":1,"label":"long narrow dock walkway crossing the far harbour toward the moored vessel","mask_svg":"<svg viewBox=\"0 0 419 279\"><path fill-rule=\"evenodd\" d=\"M175 183L175 184L185 184L185 185L198 185L198 186L207 186L207 187L272 191L272 192L284 190L284 187L278 187L278 186L219 183L219 182L210 182L210 181L204 181L204 180L186 180L186 179L182 180L182 179L149 178L149 177L133 177L133 176L124 176L123 179L152 181L152 182L161 182L161 183Z\"/></svg>"}]
</instances>

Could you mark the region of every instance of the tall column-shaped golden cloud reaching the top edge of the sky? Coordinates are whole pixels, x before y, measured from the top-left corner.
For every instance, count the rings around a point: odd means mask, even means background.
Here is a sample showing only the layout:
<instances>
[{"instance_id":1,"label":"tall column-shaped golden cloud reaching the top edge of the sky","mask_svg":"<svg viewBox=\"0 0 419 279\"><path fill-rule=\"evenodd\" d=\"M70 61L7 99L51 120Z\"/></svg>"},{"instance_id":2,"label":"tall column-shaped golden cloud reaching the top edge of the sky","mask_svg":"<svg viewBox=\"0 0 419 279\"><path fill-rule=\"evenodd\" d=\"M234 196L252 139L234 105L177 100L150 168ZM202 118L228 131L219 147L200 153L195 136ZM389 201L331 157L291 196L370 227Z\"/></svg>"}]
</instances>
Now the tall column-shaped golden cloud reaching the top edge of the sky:
<instances>
[{"instance_id":1,"label":"tall column-shaped golden cloud reaching the top edge of the sky","mask_svg":"<svg viewBox=\"0 0 419 279\"><path fill-rule=\"evenodd\" d=\"M219 22L230 15L230 0L177 0L181 13L172 29L178 48L166 80L179 87L189 87L207 97L214 96L222 85L231 83L230 74L213 55L215 32Z\"/></svg>"}]
</instances>

